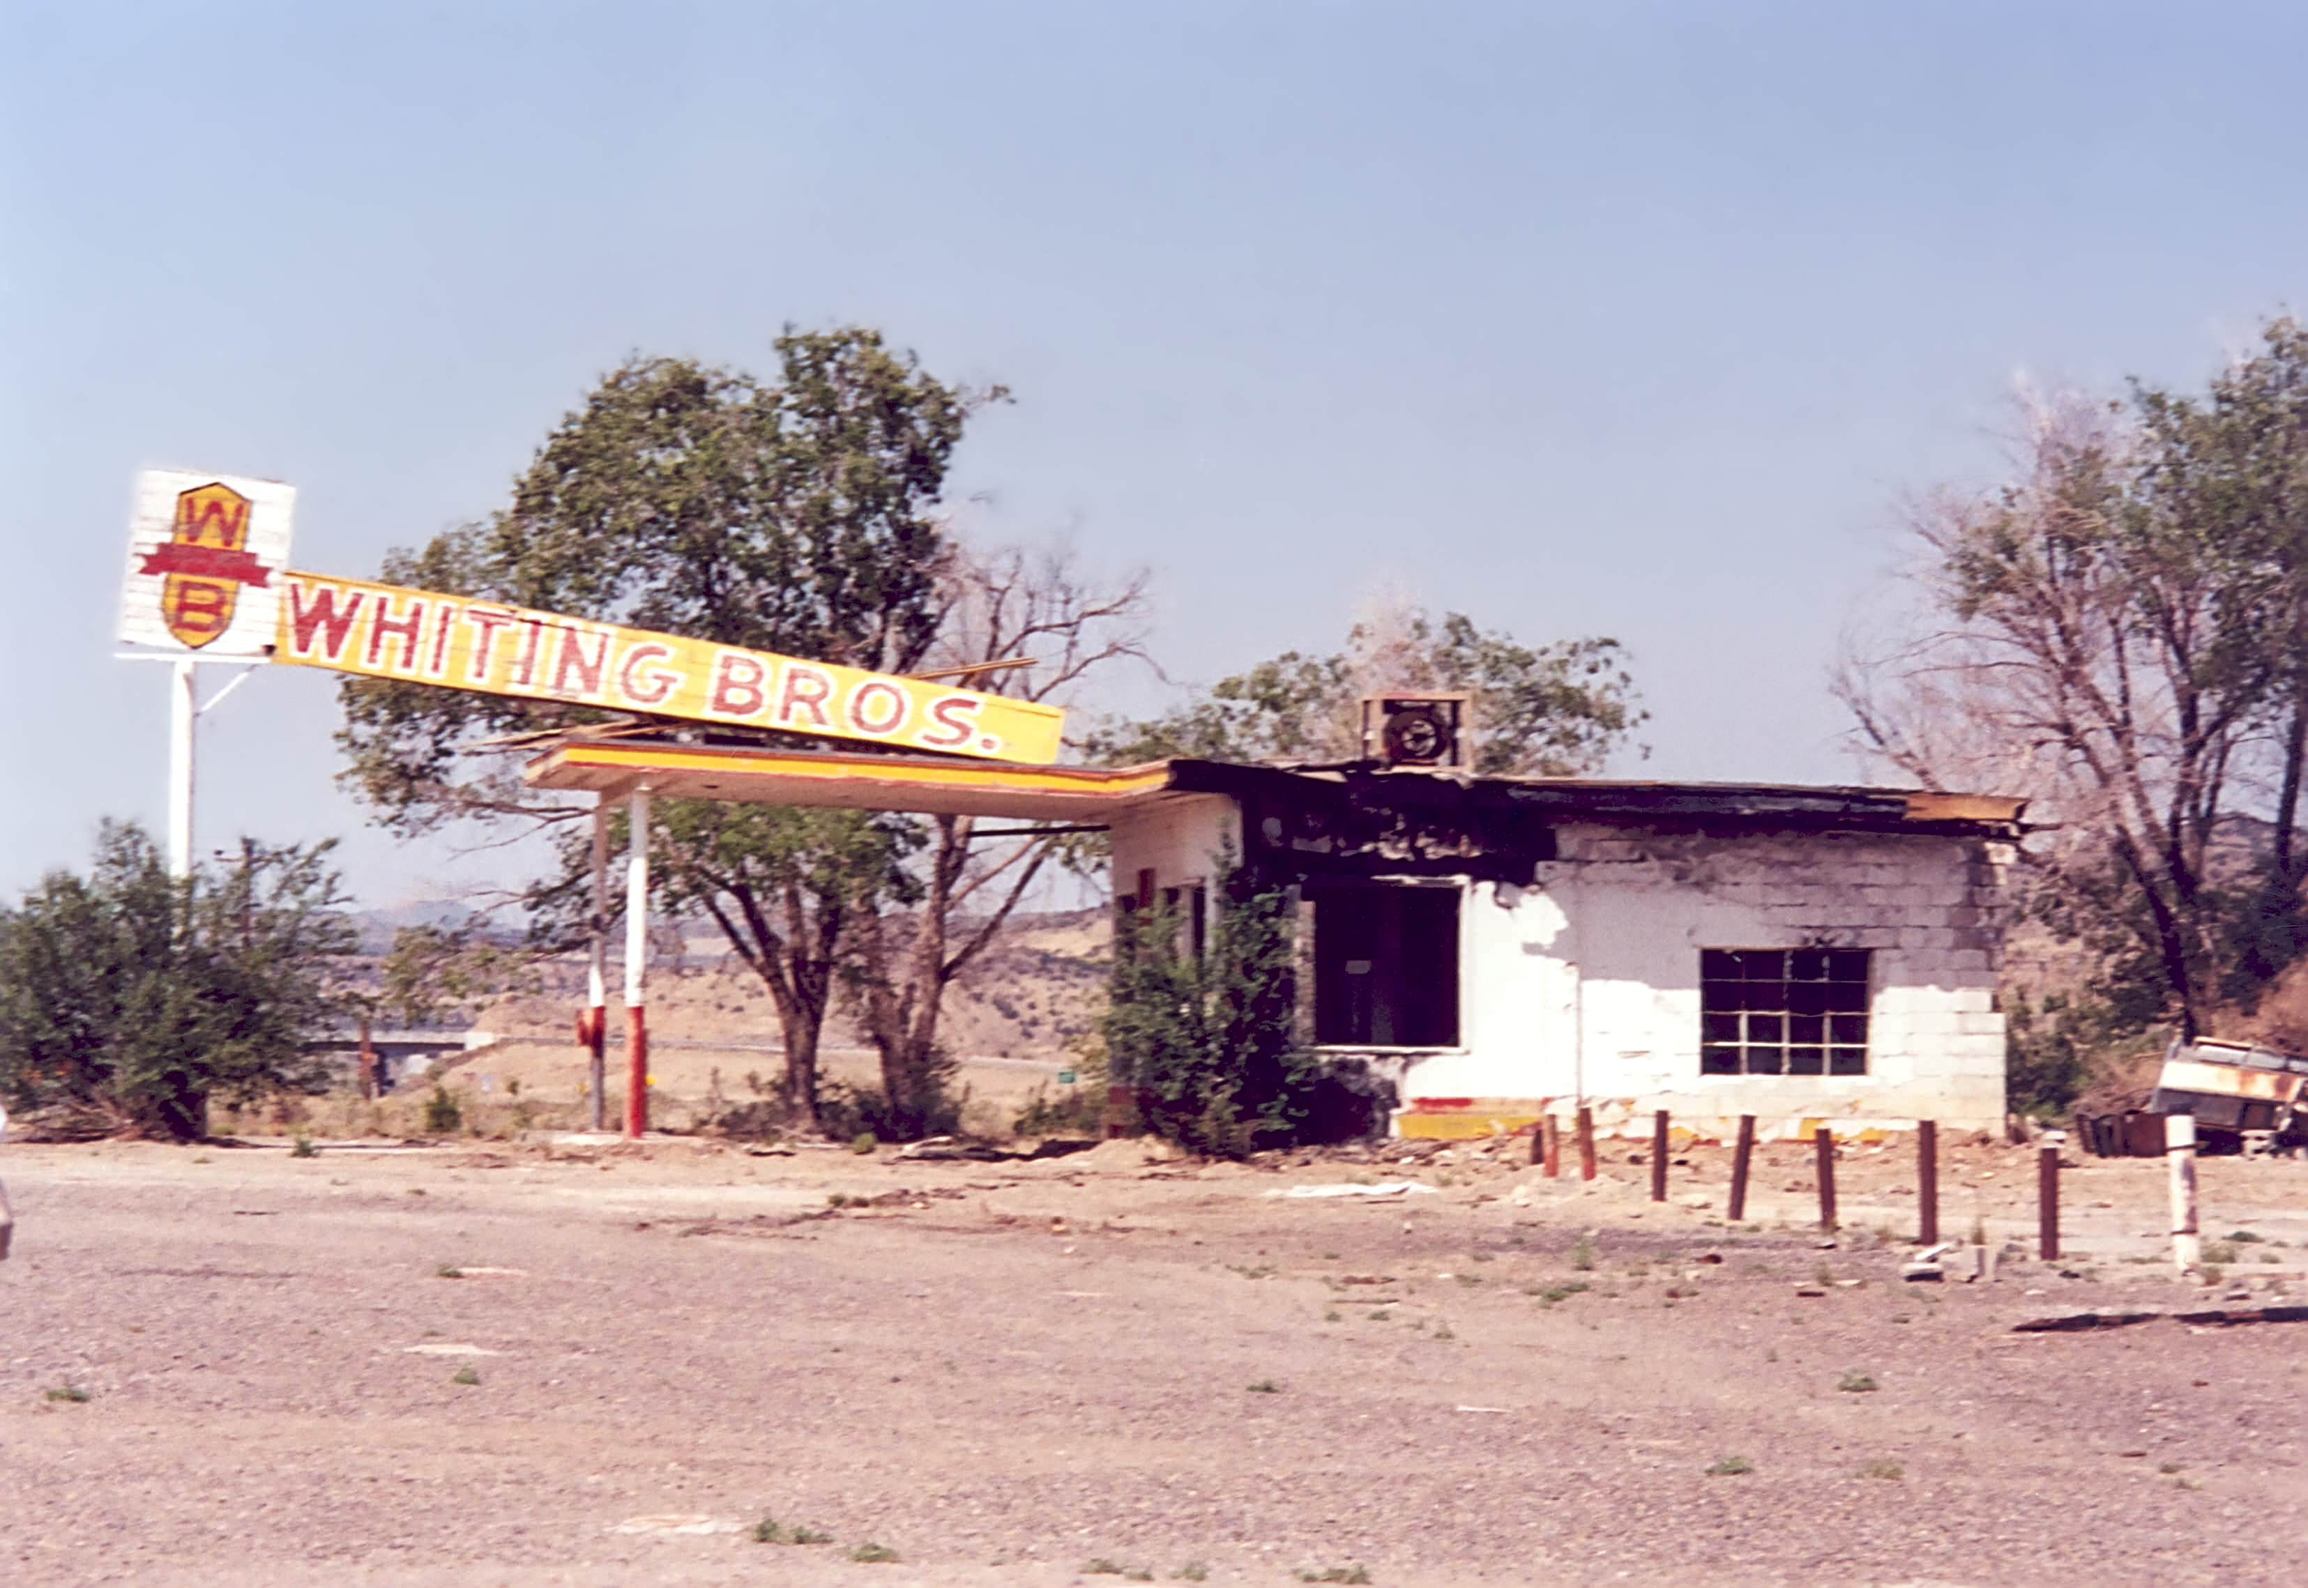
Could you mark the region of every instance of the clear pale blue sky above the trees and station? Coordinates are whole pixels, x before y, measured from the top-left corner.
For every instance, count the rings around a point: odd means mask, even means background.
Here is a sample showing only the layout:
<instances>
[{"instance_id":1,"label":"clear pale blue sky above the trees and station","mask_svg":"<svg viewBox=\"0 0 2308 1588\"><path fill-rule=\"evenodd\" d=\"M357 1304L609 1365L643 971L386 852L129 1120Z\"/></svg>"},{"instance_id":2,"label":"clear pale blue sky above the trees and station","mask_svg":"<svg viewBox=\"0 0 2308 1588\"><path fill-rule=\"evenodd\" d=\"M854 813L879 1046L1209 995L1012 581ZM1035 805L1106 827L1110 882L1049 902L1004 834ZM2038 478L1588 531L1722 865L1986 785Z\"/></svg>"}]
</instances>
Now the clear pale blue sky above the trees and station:
<instances>
[{"instance_id":1,"label":"clear pale blue sky above the trees and station","mask_svg":"<svg viewBox=\"0 0 2308 1588\"><path fill-rule=\"evenodd\" d=\"M138 466L372 572L628 351L863 321L1004 381L988 535L1149 565L1214 679L1382 582L1634 651L1669 778L1849 780L1837 635L2017 376L2197 383L2308 298L2278 5L16 5L0 12L0 889L157 822ZM215 683L222 683L215 679ZM205 720L201 845L399 849L332 688Z\"/></svg>"}]
</instances>

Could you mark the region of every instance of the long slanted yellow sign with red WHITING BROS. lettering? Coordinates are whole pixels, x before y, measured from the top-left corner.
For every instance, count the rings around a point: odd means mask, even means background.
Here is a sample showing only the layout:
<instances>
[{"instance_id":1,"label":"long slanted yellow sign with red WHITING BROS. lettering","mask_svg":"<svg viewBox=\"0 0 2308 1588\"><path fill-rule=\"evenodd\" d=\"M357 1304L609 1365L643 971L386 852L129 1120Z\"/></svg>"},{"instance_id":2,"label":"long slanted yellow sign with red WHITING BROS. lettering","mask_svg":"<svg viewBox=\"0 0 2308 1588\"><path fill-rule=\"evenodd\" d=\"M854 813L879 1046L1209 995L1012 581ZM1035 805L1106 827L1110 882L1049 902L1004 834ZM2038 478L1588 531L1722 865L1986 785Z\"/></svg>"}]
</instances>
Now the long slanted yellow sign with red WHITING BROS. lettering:
<instances>
[{"instance_id":1,"label":"long slanted yellow sign with red WHITING BROS. lettering","mask_svg":"<svg viewBox=\"0 0 2308 1588\"><path fill-rule=\"evenodd\" d=\"M279 575L275 662L995 762L1057 759L1066 713L859 667L395 584Z\"/></svg>"}]
</instances>

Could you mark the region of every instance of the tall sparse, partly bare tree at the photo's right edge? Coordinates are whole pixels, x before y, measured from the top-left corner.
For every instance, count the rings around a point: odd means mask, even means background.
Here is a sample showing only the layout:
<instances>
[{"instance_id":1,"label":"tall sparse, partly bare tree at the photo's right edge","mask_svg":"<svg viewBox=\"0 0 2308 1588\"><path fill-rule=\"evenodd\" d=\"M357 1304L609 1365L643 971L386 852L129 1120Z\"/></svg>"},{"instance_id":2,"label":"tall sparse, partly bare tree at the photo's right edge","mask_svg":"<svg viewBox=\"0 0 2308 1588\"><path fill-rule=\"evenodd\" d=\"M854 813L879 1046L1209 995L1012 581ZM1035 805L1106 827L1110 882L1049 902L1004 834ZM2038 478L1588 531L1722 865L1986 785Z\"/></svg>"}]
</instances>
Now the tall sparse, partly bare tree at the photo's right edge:
<instances>
[{"instance_id":1,"label":"tall sparse, partly bare tree at the photo's right edge","mask_svg":"<svg viewBox=\"0 0 2308 1588\"><path fill-rule=\"evenodd\" d=\"M2019 909L2086 969L2015 1025L2015 1096L2073 1083L2056 1041L2195 1036L2308 949L2308 337L2022 418L2010 478L1918 503L1920 621L1837 683L1902 773L2033 796Z\"/></svg>"}]
</instances>

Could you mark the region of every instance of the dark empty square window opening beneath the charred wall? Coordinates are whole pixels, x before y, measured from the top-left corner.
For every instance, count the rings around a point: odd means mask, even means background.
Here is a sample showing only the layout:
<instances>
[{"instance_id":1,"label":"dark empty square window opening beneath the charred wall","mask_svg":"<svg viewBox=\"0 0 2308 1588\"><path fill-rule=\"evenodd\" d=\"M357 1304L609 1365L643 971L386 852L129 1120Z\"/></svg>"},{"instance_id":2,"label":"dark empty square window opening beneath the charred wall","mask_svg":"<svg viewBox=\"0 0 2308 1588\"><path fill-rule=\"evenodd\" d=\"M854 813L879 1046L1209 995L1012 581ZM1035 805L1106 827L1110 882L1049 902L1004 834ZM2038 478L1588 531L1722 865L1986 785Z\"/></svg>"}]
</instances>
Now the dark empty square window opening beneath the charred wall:
<instances>
[{"instance_id":1,"label":"dark empty square window opening beneath the charred wall","mask_svg":"<svg viewBox=\"0 0 2308 1588\"><path fill-rule=\"evenodd\" d=\"M1313 1039L1459 1046L1459 889L1313 884Z\"/></svg>"}]
</instances>

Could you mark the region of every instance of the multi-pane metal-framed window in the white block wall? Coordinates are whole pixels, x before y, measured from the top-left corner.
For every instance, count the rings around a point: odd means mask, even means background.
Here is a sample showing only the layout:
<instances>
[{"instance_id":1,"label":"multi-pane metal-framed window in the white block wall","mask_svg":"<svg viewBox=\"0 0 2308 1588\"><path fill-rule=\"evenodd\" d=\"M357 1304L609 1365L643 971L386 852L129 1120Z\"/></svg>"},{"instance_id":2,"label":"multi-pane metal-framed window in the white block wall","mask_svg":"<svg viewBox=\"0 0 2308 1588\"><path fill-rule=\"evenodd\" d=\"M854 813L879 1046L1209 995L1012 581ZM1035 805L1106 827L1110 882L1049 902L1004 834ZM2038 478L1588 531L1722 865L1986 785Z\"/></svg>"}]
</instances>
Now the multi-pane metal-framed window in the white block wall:
<instances>
[{"instance_id":1,"label":"multi-pane metal-framed window in the white block wall","mask_svg":"<svg viewBox=\"0 0 2308 1588\"><path fill-rule=\"evenodd\" d=\"M1865 1076L1867 949L1701 949L1699 1073Z\"/></svg>"}]
</instances>

